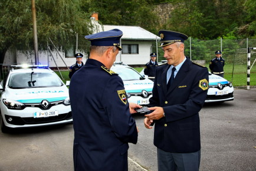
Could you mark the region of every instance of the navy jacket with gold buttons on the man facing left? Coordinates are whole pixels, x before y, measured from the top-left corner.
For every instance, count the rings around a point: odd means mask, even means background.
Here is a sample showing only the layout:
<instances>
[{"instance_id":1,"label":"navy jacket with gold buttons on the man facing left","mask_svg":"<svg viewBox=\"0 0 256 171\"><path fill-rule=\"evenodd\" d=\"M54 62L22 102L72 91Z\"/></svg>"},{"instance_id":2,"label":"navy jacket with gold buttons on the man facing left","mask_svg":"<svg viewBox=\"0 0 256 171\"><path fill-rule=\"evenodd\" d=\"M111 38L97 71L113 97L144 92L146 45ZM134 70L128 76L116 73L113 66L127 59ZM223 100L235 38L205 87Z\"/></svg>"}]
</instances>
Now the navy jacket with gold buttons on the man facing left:
<instances>
[{"instance_id":1,"label":"navy jacket with gold buttons on the man facing left","mask_svg":"<svg viewBox=\"0 0 256 171\"><path fill-rule=\"evenodd\" d=\"M208 70L186 58L167 90L168 66L156 69L153 97L149 100L150 107L160 106L165 112L165 117L155 120L154 144L166 152L197 152L201 148L199 111L208 90Z\"/></svg>"}]
</instances>

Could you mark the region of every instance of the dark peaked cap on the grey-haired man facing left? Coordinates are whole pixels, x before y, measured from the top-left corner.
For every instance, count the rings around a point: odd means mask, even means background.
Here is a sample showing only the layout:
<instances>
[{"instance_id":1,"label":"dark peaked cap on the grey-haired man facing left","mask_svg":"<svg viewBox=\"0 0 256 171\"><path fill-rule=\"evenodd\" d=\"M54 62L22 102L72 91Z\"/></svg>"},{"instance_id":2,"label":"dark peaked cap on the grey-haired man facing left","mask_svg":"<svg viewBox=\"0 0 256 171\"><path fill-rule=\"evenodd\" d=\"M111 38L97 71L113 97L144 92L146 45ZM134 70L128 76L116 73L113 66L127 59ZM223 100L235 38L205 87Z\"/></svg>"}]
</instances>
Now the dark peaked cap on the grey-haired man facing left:
<instances>
[{"instance_id":1,"label":"dark peaked cap on the grey-haired man facing left","mask_svg":"<svg viewBox=\"0 0 256 171\"><path fill-rule=\"evenodd\" d=\"M188 36L183 33L165 29L161 29L158 34L161 38L159 47L165 47L166 45L170 45L175 42L184 42L188 39Z\"/></svg>"}]
</instances>

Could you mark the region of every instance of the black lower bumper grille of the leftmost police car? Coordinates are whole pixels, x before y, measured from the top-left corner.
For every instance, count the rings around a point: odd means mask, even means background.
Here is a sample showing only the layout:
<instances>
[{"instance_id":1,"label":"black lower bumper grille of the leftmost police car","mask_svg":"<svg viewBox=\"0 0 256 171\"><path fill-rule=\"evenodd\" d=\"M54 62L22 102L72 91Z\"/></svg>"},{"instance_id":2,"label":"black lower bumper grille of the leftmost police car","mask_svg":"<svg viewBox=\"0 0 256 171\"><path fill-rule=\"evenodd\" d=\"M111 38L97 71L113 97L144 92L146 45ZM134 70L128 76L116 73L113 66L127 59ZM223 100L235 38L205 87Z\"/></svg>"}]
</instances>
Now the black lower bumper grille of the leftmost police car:
<instances>
[{"instance_id":1,"label":"black lower bumper grille of the leftmost police car","mask_svg":"<svg viewBox=\"0 0 256 171\"><path fill-rule=\"evenodd\" d=\"M11 118L12 120L9 121L8 119ZM58 116L50 116L50 117L17 117L17 116L8 116L5 115L5 119L9 124L15 125L24 125L24 124L42 124L42 123L52 123L55 121L62 121L62 120L70 120L72 119L71 111L64 114L59 114Z\"/></svg>"}]
</instances>

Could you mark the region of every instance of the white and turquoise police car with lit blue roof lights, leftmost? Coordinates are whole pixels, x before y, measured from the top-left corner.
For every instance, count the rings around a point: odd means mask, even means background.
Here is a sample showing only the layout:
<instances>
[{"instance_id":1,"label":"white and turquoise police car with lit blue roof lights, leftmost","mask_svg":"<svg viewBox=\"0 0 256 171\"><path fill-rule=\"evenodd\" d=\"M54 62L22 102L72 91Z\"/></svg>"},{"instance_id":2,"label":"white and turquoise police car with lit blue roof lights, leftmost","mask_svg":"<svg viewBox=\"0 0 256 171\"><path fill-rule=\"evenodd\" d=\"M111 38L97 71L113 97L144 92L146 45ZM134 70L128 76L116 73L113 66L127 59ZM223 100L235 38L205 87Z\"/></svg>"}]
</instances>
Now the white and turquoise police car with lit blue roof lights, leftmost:
<instances>
[{"instance_id":1,"label":"white and turquoise police car with lit blue roof lights, leftmost","mask_svg":"<svg viewBox=\"0 0 256 171\"><path fill-rule=\"evenodd\" d=\"M11 65L0 84L2 132L72 123L67 86L45 65Z\"/></svg>"}]
</instances>

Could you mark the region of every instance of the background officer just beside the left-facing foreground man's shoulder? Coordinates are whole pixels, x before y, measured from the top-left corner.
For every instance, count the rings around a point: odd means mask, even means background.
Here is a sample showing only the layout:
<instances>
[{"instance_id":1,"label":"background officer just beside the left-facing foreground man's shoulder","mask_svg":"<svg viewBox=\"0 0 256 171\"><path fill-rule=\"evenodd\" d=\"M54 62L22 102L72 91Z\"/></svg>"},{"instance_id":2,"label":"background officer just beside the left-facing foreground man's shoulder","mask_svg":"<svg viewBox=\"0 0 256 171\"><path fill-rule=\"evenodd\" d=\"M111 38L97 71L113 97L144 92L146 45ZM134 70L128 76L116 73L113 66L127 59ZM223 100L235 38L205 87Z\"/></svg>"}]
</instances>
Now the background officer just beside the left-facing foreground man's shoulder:
<instances>
[{"instance_id":1,"label":"background officer just beside the left-facing foreground man's shoulder","mask_svg":"<svg viewBox=\"0 0 256 171\"><path fill-rule=\"evenodd\" d=\"M156 67L158 67L157 61L156 61L156 53L150 54L151 60L149 63L146 63L144 74L149 76L149 79L154 81L155 75L156 75Z\"/></svg>"}]
</instances>

